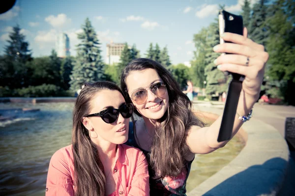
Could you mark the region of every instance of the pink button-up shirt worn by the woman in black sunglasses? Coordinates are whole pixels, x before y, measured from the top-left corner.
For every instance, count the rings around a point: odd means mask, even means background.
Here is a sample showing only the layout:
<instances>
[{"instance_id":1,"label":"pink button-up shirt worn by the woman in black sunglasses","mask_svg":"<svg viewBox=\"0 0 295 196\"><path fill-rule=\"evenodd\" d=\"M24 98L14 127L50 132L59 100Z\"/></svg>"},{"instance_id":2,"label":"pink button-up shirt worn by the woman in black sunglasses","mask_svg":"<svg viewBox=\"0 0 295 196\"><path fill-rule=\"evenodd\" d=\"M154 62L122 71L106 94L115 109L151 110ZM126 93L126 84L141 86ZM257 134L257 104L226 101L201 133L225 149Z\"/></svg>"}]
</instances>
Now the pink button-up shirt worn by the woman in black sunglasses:
<instances>
[{"instance_id":1,"label":"pink button-up shirt worn by the woman in black sunglasses","mask_svg":"<svg viewBox=\"0 0 295 196\"><path fill-rule=\"evenodd\" d=\"M118 145L113 176L117 185L111 196L149 196L148 163L138 148ZM74 196L72 145L59 149L49 164L46 196Z\"/></svg>"}]
</instances>

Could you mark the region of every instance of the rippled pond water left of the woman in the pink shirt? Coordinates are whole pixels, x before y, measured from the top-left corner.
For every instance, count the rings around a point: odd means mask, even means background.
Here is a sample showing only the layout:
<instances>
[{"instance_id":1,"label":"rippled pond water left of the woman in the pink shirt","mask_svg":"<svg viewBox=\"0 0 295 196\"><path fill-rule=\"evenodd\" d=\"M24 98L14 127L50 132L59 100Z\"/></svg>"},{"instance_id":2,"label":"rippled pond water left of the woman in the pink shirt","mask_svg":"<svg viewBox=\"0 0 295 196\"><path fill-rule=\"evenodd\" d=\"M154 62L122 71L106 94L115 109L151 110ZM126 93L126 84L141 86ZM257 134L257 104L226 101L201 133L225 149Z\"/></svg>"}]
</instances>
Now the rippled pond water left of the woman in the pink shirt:
<instances>
[{"instance_id":1,"label":"rippled pond water left of the woman in the pink shirt","mask_svg":"<svg viewBox=\"0 0 295 196\"><path fill-rule=\"evenodd\" d=\"M40 111L0 128L0 195L44 196L51 156L71 142L73 103L0 105L19 107Z\"/></svg>"}]
</instances>

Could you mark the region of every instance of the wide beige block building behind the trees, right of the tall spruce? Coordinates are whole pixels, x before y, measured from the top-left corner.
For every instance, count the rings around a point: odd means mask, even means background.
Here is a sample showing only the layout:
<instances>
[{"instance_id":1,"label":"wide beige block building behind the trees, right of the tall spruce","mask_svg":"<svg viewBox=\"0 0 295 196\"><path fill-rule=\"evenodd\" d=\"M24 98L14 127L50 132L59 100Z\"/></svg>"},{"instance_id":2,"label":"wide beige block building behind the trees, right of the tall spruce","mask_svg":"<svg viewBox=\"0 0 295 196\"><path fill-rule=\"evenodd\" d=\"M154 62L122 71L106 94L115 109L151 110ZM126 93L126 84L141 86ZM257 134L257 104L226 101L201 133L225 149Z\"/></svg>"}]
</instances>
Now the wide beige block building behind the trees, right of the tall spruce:
<instances>
[{"instance_id":1,"label":"wide beige block building behind the trees, right of the tall spruce","mask_svg":"<svg viewBox=\"0 0 295 196\"><path fill-rule=\"evenodd\" d=\"M113 65L114 63L120 62L120 56L122 50L124 49L125 44L121 43L113 43L107 44L107 56L106 63L109 65Z\"/></svg>"}]
</instances>

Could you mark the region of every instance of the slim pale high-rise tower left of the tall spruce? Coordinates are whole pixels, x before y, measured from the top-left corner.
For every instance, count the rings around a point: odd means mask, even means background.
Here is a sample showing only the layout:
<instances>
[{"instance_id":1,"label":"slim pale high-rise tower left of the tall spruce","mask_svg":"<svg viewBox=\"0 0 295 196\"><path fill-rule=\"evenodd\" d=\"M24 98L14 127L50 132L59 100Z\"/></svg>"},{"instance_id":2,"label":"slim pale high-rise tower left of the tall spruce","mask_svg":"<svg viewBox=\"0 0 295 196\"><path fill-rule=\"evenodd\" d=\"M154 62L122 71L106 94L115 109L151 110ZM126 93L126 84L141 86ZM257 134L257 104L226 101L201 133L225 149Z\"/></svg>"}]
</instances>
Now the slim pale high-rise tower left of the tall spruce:
<instances>
[{"instance_id":1,"label":"slim pale high-rise tower left of the tall spruce","mask_svg":"<svg viewBox=\"0 0 295 196\"><path fill-rule=\"evenodd\" d=\"M70 39L65 33L59 33L56 39L56 50L58 56L65 58L70 56Z\"/></svg>"}]
</instances>

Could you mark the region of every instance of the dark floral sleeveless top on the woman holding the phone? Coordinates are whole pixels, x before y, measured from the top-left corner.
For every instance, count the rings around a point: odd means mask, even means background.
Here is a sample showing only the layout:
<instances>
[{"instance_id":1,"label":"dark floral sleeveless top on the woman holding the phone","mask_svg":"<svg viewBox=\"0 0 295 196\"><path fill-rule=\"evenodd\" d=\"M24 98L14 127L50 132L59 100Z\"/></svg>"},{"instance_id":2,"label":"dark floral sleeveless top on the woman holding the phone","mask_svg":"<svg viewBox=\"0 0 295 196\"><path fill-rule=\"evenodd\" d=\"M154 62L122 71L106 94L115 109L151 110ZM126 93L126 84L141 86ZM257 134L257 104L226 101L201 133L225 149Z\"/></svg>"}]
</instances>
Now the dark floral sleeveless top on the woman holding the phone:
<instances>
[{"instance_id":1,"label":"dark floral sleeveless top on the woman holding the phone","mask_svg":"<svg viewBox=\"0 0 295 196\"><path fill-rule=\"evenodd\" d=\"M129 122L128 140L125 145L137 147L146 155L148 161L150 196L186 196L186 180L188 178L193 160L185 162L185 167L177 177L166 176L161 179L154 179L153 177L155 176L155 171L151 168L149 162L150 152L142 149L136 143L132 122Z\"/></svg>"}]
</instances>

